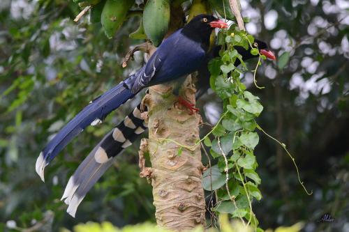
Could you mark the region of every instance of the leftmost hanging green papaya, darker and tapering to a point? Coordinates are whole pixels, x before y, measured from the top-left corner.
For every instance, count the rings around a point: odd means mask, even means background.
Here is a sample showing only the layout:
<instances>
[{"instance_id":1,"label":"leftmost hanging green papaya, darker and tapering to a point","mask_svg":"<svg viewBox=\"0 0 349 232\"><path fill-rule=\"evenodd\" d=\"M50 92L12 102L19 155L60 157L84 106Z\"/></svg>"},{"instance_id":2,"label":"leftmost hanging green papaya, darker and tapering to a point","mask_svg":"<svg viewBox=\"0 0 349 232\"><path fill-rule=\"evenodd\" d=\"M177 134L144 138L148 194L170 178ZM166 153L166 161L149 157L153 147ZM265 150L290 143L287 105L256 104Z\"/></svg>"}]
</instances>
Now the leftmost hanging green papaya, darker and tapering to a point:
<instances>
[{"instance_id":1,"label":"leftmost hanging green papaya, darker and tapering to a point","mask_svg":"<svg viewBox=\"0 0 349 232\"><path fill-rule=\"evenodd\" d=\"M126 19L134 0L107 0L101 14L101 24L107 38L112 38Z\"/></svg>"}]
</instances>

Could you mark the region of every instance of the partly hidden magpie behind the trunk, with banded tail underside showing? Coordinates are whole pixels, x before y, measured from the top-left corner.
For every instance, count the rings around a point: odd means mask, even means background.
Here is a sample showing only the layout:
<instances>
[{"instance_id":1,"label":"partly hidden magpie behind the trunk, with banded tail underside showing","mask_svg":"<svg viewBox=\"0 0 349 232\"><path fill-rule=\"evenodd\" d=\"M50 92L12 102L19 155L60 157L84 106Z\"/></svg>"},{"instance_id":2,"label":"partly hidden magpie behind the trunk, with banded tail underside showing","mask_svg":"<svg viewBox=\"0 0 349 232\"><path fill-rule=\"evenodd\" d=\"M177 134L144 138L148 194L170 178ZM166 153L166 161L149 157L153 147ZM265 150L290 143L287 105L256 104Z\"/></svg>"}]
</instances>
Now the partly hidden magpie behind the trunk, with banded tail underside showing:
<instances>
[{"instance_id":1,"label":"partly hidden magpie behind the trunk, with banded tail underside showing","mask_svg":"<svg viewBox=\"0 0 349 232\"><path fill-rule=\"evenodd\" d=\"M269 59L275 59L274 54L267 48L267 44L260 40L255 40L261 54L267 54ZM237 52L242 55L244 61L257 57L251 54L251 49L243 47L235 47ZM221 46L216 46L207 54L204 63L198 68L198 82L196 84L198 91L196 98L200 98L209 88L209 70L207 64L211 59L218 56ZM240 61L235 61L235 66L239 65ZM84 161L79 165L73 176L70 177L66 189L61 200L68 205L67 212L75 216L77 207L84 199L84 196L89 192L91 187L99 178L107 171L114 162L114 157L121 153L125 148L131 146L133 141L140 137L140 134L147 130L147 123L141 118L140 105L126 116L124 121L119 123L112 131L110 131L102 141L89 153ZM119 134L119 141L114 140L113 134ZM106 154L107 156L101 156Z\"/></svg>"}]
</instances>

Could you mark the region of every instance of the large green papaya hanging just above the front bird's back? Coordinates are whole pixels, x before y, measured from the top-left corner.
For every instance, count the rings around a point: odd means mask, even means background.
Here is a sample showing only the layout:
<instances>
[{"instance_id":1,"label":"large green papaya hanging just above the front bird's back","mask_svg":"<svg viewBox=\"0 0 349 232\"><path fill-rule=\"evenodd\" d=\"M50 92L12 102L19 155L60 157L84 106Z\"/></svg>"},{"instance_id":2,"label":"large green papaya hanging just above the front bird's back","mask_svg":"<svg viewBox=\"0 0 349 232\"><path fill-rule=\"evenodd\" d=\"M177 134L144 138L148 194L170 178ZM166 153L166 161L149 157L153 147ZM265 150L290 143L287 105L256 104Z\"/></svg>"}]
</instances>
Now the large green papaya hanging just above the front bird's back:
<instances>
[{"instance_id":1,"label":"large green papaya hanging just above the front bird's back","mask_svg":"<svg viewBox=\"0 0 349 232\"><path fill-rule=\"evenodd\" d=\"M168 31L170 0L148 0L143 10L144 32L157 47Z\"/></svg>"}]
</instances>

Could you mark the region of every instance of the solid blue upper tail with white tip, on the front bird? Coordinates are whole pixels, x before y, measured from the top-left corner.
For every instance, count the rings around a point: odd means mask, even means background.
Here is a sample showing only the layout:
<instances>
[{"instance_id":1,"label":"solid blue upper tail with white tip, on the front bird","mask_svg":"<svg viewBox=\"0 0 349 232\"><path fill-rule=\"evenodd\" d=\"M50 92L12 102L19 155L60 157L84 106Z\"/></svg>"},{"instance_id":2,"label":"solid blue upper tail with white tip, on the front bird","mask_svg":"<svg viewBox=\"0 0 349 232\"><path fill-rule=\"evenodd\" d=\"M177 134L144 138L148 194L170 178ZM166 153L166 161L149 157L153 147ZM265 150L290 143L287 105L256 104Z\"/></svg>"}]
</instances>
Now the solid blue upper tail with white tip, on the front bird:
<instances>
[{"instance_id":1,"label":"solid blue upper tail with white tip, on the front bird","mask_svg":"<svg viewBox=\"0 0 349 232\"><path fill-rule=\"evenodd\" d=\"M65 125L56 136L45 146L36 160L36 172L41 180L45 181L44 169L50 161L88 125L101 123L105 116L117 109L135 94L121 82L114 88L103 93L100 97L90 102L82 109L67 125Z\"/></svg>"}]
</instances>

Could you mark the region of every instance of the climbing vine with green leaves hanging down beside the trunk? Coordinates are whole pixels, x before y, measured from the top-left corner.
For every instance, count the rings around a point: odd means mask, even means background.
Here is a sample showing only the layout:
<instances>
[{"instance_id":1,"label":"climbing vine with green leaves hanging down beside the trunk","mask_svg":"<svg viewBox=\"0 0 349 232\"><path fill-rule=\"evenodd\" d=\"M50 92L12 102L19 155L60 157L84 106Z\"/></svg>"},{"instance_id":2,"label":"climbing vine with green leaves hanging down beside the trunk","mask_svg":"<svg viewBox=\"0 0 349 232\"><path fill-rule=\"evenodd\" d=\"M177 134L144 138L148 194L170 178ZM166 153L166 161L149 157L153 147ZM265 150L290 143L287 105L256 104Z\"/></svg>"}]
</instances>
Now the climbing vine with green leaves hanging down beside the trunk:
<instances>
[{"instance_id":1,"label":"climbing vine with green leaves hanging down beside the trunk","mask_svg":"<svg viewBox=\"0 0 349 232\"><path fill-rule=\"evenodd\" d=\"M254 38L232 26L228 31L218 35L218 41L224 45L220 56L209 63L211 72L211 88L223 100L223 114L212 134L214 139L205 137L204 144L210 148L211 156L217 164L209 167L204 173L204 188L216 191L216 212L230 213L244 224L251 224L255 231L258 219L252 209L252 202L262 199L258 189L261 180L255 169L258 163L254 149L259 137L257 118L263 110L259 98L246 91L240 75L247 71L246 65L234 46L245 49L251 47L251 54L258 56L258 47L253 46ZM242 65L235 67L239 59ZM258 64L253 72L257 72L261 61L266 59L260 55ZM255 75L254 75L255 77ZM256 81L255 81L256 84ZM257 86L257 85L256 85ZM246 220L246 221L245 221Z\"/></svg>"}]
</instances>

